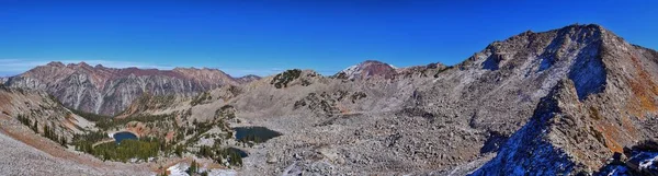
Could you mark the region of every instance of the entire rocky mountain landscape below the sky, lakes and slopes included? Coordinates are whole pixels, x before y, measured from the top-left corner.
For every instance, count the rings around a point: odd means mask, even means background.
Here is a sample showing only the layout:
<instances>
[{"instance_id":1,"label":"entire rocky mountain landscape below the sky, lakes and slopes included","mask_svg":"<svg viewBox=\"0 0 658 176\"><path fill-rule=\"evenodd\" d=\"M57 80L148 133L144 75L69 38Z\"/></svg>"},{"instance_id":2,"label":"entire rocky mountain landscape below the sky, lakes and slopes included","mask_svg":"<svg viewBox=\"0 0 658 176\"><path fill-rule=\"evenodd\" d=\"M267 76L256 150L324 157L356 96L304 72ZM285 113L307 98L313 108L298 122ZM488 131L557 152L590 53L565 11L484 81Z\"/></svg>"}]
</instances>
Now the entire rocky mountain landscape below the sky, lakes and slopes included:
<instances>
[{"instance_id":1,"label":"entire rocky mountain landscape below the sky, lakes and slopes included","mask_svg":"<svg viewBox=\"0 0 658 176\"><path fill-rule=\"evenodd\" d=\"M21 148L0 153L37 175L657 175L657 51L595 24L329 77L52 62L2 85L0 140Z\"/></svg>"}]
</instances>

